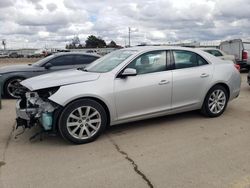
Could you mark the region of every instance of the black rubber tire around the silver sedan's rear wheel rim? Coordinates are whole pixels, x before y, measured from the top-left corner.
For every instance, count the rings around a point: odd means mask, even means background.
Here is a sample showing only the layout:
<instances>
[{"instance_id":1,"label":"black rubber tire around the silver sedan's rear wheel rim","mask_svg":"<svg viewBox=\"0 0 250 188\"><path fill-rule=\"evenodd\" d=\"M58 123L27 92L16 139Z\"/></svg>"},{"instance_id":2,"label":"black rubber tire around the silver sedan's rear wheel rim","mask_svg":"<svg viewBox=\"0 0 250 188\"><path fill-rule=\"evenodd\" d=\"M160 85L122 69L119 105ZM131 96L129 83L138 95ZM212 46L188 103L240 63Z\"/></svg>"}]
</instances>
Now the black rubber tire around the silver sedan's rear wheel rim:
<instances>
[{"instance_id":1,"label":"black rubber tire around the silver sedan's rear wheel rim","mask_svg":"<svg viewBox=\"0 0 250 188\"><path fill-rule=\"evenodd\" d=\"M212 97L212 94L213 94L215 91L223 92L224 95L225 95L225 104L224 104L224 107L223 107L221 110L218 110L217 113L215 113L215 112L213 112L213 111L211 110L211 108L213 108L213 106L211 106L211 107L209 108L209 103L210 103L210 105L211 105L211 102L210 102L211 100L209 100L209 99L210 99L210 97ZM221 114L223 114L223 112L225 111L225 109L226 109L226 107L227 107L228 99L229 99L229 93L228 93L228 91L226 90L226 88L223 87L222 85L215 85L214 87L212 87L212 88L208 91L208 93L207 93L207 95L206 95L206 97L205 97L205 100L204 100L204 102L203 102L202 108L201 108L201 113L202 113L203 115L205 115L205 116L207 116L207 117L211 117L211 118L220 116ZM216 105L215 105L215 106L216 106ZM217 107L216 107L216 108L217 108Z\"/></svg>"}]
</instances>

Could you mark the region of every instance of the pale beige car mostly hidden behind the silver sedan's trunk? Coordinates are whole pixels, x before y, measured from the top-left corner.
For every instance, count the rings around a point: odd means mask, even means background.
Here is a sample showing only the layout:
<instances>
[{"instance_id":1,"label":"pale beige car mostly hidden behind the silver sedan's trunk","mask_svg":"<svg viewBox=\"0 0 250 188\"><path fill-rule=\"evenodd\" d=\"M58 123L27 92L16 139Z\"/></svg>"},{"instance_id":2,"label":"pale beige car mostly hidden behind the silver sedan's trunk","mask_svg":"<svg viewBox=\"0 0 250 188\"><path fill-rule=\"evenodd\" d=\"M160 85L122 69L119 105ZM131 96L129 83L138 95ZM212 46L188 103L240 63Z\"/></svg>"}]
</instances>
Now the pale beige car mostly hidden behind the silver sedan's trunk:
<instances>
[{"instance_id":1,"label":"pale beige car mostly hidden behind the silver sedan's trunk","mask_svg":"<svg viewBox=\"0 0 250 188\"><path fill-rule=\"evenodd\" d=\"M240 71L240 65L236 63L236 59L234 55L228 55L220 49L217 48L199 48L204 52L210 53L211 55L220 58L221 60L227 60L228 62L231 61L234 63L235 68Z\"/></svg>"}]
</instances>

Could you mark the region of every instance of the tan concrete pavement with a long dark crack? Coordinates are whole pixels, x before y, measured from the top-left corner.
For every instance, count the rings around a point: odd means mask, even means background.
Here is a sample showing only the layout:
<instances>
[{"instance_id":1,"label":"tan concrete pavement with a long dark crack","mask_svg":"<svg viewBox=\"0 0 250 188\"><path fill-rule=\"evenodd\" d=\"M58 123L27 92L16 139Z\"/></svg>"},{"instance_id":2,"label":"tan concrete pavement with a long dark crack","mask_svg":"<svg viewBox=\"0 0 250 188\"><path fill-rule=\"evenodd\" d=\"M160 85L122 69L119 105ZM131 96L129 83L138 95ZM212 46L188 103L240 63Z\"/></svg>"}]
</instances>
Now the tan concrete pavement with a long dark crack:
<instances>
[{"instance_id":1,"label":"tan concrete pavement with a long dark crack","mask_svg":"<svg viewBox=\"0 0 250 188\"><path fill-rule=\"evenodd\" d=\"M249 187L249 96L244 73L240 97L219 118L188 112L118 125L85 145L30 142L36 129L15 139L15 101L3 100L0 187Z\"/></svg>"}]
</instances>

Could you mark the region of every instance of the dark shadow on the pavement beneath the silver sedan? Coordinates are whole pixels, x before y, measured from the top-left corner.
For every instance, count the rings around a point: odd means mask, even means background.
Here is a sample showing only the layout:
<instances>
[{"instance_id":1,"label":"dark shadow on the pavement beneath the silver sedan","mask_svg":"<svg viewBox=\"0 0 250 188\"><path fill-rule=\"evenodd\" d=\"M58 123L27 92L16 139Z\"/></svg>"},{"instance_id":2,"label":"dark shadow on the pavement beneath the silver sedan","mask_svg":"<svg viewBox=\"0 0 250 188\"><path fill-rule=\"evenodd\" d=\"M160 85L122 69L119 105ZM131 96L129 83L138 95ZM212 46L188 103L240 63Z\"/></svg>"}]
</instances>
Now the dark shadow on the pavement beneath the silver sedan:
<instances>
[{"instance_id":1,"label":"dark shadow on the pavement beneath the silver sedan","mask_svg":"<svg viewBox=\"0 0 250 188\"><path fill-rule=\"evenodd\" d=\"M151 118L151 119L146 119L146 120L141 120L141 121L135 121L135 122L130 122L130 123L123 123L119 125L114 125L114 126L108 126L104 133L96 140L94 141L95 144L98 142L102 142L104 139L106 139L106 136L120 136L124 134L129 134L134 131L140 131L145 128L156 128L156 127L161 127L161 126L174 126L175 122L179 121L188 121L189 119L200 119L202 116L199 114L197 111L191 111L191 112L184 112L184 113L179 113L179 114L174 114L174 115L166 115L162 117L157 117L157 118ZM31 130L26 131L23 135L18 136L15 138L13 135L13 141L14 142L21 142L21 143L30 143L30 144L36 144L36 145L50 145L50 146L72 146L72 143L69 143L65 141L64 139L61 138L61 136L58 134L42 134L42 135L37 135L33 139L30 140L32 136L34 136L36 133L40 132L41 128L40 127L34 127ZM159 131L161 131L159 129ZM20 143L20 144L21 144ZM94 143L89 143L89 144L94 144Z\"/></svg>"}]
</instances>

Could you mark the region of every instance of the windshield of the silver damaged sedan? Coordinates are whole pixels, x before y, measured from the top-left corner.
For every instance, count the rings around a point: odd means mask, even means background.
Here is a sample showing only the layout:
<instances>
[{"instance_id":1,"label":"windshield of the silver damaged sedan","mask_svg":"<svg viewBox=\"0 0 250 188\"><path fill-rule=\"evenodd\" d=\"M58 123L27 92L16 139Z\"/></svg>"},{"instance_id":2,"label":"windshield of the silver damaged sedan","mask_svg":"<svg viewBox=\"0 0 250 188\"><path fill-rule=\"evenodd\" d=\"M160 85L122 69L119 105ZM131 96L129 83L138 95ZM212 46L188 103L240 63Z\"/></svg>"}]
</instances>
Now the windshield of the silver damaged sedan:
<instances>
[{"instance_id":1,"label":"windshield of the silver damaged sedan","mask_svg":"<svg viewBox=\"0 0 250 188\"><path fill-rule=\"evenodd\" d=\"M109 72L120 65L124 60L133 55L136 50L117 50L96 60L86 71L88 72Z\"/></svg>"}]
</instances>

